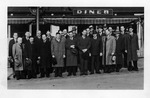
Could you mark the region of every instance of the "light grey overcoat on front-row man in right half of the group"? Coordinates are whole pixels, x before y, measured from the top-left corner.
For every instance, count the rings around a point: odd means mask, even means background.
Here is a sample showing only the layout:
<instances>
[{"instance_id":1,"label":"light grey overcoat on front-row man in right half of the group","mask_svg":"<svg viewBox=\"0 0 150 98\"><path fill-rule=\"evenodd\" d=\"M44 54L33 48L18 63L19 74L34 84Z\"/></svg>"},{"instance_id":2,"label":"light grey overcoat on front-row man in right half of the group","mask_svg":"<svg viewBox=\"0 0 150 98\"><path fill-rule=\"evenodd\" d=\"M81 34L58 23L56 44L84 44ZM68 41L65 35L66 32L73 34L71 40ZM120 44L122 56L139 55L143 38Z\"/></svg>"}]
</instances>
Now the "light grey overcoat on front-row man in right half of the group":
<instances>
[{"instance_id":1,"label":"light grey overcoat on front-row man in right half of the group","mask_svg":"<svg viewBox=\"0 0 150 98\"><path fill-rule=\"evenodd\" d=\"M103 65L112 65L115 64L115 62L112 61L112 53L115 53L116 50L116 40L115 37L110 36L107 38L107 36L103 37ZM105 46L106 45L106 46ZM105 62L106 60L106 62Z\"/></svg>"}]
</instances>

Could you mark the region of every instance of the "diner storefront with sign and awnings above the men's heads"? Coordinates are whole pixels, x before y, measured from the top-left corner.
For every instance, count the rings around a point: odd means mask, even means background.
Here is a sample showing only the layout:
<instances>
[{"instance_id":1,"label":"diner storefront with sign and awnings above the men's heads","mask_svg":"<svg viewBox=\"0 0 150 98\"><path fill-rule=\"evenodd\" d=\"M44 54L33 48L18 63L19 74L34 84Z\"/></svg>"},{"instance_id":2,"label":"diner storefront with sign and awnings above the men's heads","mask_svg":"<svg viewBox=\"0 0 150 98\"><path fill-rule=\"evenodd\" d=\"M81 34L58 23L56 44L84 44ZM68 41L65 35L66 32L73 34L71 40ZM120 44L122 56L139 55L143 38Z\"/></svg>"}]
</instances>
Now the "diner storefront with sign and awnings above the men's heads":
<instances>
[{"instance_id":1,"label":"diner storefront with sign and awnings above the men's heads","mask_svg":"<svg viewBox=\"0 0 150 98\"><path fill-rule=\"evenodd\" d=\"M143 7L8 7L8 38L14 32L24 36L30 31L32 36L37 30L53 35L60 29L71 30L72 26L81 33L89 25L116 28L132 25L138 34L140 49L144 47L144 8ZM143 48L144 49L144 48ZM142 49L142 51L143 51ZM143 55L140 53L139 55Z\"/></svg>"}]
</instances>

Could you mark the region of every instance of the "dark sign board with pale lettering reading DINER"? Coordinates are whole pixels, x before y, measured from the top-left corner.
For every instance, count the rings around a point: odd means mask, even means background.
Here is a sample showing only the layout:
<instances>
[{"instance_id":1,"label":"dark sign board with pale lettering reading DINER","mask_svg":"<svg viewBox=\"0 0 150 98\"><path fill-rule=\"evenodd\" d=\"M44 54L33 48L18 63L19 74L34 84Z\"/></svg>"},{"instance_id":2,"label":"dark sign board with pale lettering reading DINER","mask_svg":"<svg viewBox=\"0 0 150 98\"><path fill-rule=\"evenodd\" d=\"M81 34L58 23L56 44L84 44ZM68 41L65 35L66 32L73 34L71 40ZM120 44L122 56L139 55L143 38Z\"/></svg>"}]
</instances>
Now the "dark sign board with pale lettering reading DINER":
<instances>
[{"instance_id":1,"label":"dark sign board with pale lettering reading DINER","mask_svg":"<svg viewBox=\"0 0 150 98\"><path fill-rule=\"evenodd\" d=\"M73 15L113 15L112 9L78 9L73 10Z\"/></svg>"}]
</instances>

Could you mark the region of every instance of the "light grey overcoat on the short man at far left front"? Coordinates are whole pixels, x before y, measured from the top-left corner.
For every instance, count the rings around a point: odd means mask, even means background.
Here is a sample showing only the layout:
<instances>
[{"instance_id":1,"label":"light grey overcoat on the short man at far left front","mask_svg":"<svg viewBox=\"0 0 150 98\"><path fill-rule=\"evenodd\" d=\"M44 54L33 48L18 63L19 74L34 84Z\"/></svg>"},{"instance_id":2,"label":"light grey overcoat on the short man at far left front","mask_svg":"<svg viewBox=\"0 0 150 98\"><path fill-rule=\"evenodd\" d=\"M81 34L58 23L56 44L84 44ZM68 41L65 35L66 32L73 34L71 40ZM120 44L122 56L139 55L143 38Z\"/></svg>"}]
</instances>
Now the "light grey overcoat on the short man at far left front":
<instances>
[{"instance_id":1,"label":"light grey overcoat on the short man at far left front","mask_svg":"<svg viewBox=\"0 0 150 98\"><path fill-rule=\"evenodd\" d=\"M23 70L23 48L16 43L12 48L13 58L14 58L14 69L15 71Z\"/></svg>"}]
</instances>

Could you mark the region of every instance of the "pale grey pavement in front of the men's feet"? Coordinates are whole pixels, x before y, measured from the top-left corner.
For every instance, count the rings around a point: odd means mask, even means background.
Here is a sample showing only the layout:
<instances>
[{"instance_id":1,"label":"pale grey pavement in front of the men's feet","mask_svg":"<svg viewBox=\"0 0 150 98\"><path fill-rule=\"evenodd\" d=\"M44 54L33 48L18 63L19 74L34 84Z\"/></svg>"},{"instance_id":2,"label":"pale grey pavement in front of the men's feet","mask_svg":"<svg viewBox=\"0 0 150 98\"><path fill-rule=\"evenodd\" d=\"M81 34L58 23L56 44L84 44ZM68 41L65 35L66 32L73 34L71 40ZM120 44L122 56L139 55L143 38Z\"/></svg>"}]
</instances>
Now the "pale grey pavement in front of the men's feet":
<instances>
[{"instance_id":1,"label":"pale grey pavement in front of the men's feet","mask_svg":"<svg viewBox=\"0 0 150 98\"><path fill-rule=\"evenodd\" d=\"M7 82L8 89L72 89L72 90L142 90L144 88L144 58L138 61L139 71L127 71L122 68L120 72L93 74L87 76L67 77L67 72L63 73L63 78L55 78L51 74L50 78L37 79L10 79Z\"/></svg>"}]
</instances>

